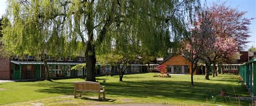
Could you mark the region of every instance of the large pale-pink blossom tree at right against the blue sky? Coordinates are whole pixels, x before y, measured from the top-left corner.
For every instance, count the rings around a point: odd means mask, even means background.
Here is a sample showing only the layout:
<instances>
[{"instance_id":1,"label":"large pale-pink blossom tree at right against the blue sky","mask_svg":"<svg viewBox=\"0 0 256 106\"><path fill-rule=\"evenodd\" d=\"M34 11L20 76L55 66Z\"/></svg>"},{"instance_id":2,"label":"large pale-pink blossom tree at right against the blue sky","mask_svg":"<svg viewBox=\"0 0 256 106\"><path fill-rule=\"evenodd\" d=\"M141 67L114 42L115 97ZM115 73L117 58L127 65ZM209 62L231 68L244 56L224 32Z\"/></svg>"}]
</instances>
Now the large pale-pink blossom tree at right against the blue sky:
<instances>
[{"instance_id":1,"label":"large pale-pink blossom tree at right against the blue sky","mask_svg":"<svg viewBox=\"0 0 256 106\"><path fill-rule=\"evenodd\" d=\"M250 37L249 27L253 18L244 18L246 12L240 12L237 9L226 6L225 3L214 3L207 8L209 18L213 23L215 30L215 43L209 47L212 53L206 55L207 59L213 63L213 77L217 76L216 63L218 60L227 59L236 55L248 43ZM227 59L228 60L228 59Z\"/></svg>"}]
</instances>

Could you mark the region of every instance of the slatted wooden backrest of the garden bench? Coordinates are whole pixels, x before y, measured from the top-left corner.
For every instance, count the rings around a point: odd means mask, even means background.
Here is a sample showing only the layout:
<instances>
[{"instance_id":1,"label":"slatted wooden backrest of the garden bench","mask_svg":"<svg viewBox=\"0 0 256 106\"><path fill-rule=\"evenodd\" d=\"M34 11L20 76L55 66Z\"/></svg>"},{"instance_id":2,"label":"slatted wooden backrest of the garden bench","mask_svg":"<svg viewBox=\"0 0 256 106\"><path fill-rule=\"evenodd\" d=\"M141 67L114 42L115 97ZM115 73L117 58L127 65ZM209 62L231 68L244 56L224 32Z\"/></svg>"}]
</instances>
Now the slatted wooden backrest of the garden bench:
<instances>
[{"instance_id":1,"label":"slatted wooden backrest of the garden bench","mask_svg":"<svg viewBox=\"0 0 256 106\"><path fill-rule=\"evenodd\" d=\"M90 82L90 81L75 82L75 90L99 92L100 85L97 82Z\"/></svg>"}]
</instances>

